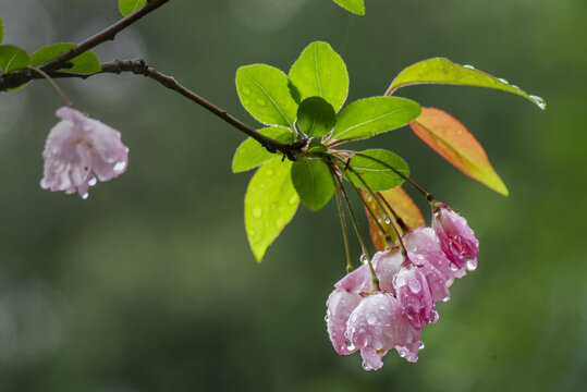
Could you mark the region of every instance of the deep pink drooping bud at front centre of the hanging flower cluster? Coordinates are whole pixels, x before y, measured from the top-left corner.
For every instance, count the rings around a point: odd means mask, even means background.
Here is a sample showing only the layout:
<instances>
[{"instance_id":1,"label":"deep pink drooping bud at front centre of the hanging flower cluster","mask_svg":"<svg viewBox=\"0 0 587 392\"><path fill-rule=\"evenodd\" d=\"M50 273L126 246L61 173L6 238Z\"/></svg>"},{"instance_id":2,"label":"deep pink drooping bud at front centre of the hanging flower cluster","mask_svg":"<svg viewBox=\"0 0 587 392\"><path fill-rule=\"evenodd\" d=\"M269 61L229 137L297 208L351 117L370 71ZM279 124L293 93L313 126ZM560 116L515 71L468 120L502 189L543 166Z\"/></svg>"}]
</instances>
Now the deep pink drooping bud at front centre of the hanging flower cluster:
<instances>
[{"instance_id":1,"label":"deep pink drooping bud at front centre of the hanging flower cluster","mask_svg":"<svg viewBox=\"0 0 587 392\"><path fill-rule=\"evenodd\" d=\"M420 329L438 321L432 291L418 267L402 268L395 275L394 286L402 313L412 327Z\"/></svg>"}]
</instances>

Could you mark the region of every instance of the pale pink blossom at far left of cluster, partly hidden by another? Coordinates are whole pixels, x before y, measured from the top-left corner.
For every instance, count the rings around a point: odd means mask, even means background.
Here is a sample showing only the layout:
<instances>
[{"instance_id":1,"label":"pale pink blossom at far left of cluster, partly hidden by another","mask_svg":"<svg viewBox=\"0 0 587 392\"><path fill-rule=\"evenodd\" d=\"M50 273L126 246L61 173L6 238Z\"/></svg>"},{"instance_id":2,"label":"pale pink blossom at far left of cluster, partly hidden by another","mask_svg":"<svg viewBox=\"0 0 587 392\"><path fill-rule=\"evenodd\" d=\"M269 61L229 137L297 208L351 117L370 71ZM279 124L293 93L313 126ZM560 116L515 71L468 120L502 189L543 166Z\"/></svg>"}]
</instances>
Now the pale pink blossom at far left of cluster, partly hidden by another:
<instances>
[{"instance_id":1,"label":"pale pink blossom at far left of cluster, partly hidden by another","mask_svg":"<svg viewBox=\"0 0 587 392\"><path fill-rule=\"evenodd\" d=\"M326 322L327 330L337 353L341 355L353 354L356 348L347 344L344 333L346 331L346 321L351 313L357 307L362 297L357 293L350 293L342 289L335 289L328 296L326 302Z\"/></svg>"}]
</instances>

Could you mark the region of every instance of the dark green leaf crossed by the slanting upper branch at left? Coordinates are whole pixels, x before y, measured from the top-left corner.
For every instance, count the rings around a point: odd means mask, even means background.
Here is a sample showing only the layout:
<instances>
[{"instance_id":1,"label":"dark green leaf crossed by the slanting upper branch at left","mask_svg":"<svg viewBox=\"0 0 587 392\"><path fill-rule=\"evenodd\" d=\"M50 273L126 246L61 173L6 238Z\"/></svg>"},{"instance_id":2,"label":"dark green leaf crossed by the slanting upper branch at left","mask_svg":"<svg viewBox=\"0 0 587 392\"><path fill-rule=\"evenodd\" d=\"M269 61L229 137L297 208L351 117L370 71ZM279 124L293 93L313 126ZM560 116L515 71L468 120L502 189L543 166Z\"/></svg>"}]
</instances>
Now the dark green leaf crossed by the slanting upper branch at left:
<instances>
[{"instance_id":1,"label":"dark green leaf crossed by the slanting upper branch at left","mask_svg":"<svg viewBox=\"0 0 587 392\"><path fill-rule=\"evenodd\" d=\"M42 47L30 54L29 63L33 66L44 64L47 61L57 58L59 54L66 52L73 47L75 47L75 44L65 42L52 44ZM90 51L85 51L82 54L71 59L69 61L69 65L70 66L61 68L59 71L81 75L90 75L102 70L98 58Z\"/></svg>"}]
</instances>

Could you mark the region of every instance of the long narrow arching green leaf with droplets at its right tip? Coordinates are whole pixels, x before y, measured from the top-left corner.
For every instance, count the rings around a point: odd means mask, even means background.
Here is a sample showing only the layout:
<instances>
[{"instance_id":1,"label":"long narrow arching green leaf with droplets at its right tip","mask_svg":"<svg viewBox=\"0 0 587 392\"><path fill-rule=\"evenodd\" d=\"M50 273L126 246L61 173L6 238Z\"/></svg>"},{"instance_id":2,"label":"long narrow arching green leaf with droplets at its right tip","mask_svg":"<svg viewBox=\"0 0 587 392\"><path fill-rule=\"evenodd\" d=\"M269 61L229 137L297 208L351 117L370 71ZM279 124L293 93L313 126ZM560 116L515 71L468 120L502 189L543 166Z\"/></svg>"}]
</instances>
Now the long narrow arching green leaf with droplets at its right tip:
<instances>
[{"instance_id":1,"label":"long narrow arching green leaf with droplets at its right tip","mask_svg":"<svg viewBox=\"0 0 587 392\"><path fill-rule=\"evenodd\" d=\"M393 94L393 91L395 91L398 88L417 84L452 84L497 88L527 98L542 110L547 108L547 105L542 98L528 95L526 91L517 86L511 85L505 79L491 76L490 74L478 71L470 65L460 65L453 63L449 59L444 58L424 60L404 69L391 83L391 86L386 95Z\"/></svg>"}]
</instances>

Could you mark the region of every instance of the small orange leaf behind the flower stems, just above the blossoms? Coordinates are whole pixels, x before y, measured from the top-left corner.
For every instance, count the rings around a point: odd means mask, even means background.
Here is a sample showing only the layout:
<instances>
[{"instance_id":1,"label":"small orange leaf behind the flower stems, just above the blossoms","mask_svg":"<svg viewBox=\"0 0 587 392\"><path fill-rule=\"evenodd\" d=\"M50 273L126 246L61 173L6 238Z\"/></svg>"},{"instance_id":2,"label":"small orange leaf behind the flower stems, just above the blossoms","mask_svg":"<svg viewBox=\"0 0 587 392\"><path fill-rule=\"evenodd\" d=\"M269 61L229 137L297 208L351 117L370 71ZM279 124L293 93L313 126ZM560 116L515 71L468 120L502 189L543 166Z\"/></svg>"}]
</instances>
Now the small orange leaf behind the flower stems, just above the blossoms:
<instances>
[{"instance_id":1,"label":"small orange leaf behind the flower stems, just above the blossoms","mask_svg":"<svg viewBox=\"0 0 587 392\"><path fill-rule=\"evenodd\" d=\"M423 226L426 223L424 217L421 216L420 209L414 204L412 198L405 193L404 189L402 189L402 187L398 186L393 189L381 191L378 192L378 195L384 199L384 203L382 203L382 205L384 210L387 211L387 215L379 206L379 203L377 203L367 191L363 191L363 199L370 208L370 210L374 211L375 216L377 217L377 220L379 221L386 233L392 238L392 241L398 240L398 236L395 235L395 232L391 226L392 223L395 224L395 228L400 231L401 234L404 234L404 232L401 225L398 224L398 222L393 218L393 213L391 213L388 205L393 208L395 215L407 226L412 229ZM366 212L367 218L369 219L369 231L375 248L377 250L384 250L387 246L386 235L381 233L379 224L377 224L369 211Z\"/></svg>"}]
</instances>

